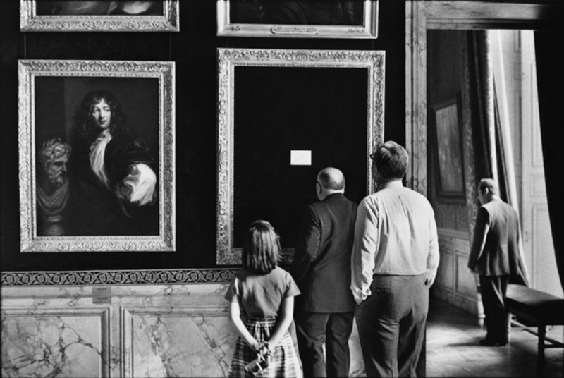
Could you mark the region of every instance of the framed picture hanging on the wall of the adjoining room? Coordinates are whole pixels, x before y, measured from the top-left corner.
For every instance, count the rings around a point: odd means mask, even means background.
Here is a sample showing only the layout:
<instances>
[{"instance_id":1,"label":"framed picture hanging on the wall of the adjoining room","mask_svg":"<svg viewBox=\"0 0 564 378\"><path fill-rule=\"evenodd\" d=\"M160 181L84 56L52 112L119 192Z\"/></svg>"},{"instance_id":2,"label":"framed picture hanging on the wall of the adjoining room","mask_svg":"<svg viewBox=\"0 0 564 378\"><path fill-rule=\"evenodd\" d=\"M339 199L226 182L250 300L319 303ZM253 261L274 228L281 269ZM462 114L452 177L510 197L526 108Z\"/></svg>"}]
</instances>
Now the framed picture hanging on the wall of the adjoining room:
<instances>
[{"instance_id":1,"label":"framed picture hanging on the wall of the adjoining room","mask_svg":"<svg viewBox=\"0 0 564 378\"><path fill-rule=\"evenodd\" d=\"M438 200L465 200L460 111L460 94L453 94L431 104L431 125L436 143L434 165Z\"/></svg>"}]
</instances>

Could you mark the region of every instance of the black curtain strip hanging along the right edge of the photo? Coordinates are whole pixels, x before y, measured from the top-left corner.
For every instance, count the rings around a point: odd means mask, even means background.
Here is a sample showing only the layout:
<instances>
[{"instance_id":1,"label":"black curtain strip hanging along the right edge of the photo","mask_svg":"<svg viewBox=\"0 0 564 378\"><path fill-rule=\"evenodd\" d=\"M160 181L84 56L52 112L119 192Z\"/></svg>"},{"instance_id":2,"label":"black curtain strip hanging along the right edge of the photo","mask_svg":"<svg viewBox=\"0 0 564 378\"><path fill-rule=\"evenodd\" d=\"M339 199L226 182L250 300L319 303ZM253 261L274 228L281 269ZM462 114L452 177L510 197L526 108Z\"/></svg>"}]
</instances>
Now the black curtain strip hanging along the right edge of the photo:
<instances>
[{"instance_id":1,"label":"black curtain strip hanging along the right edge of the photo","mask_svg":"<svg viewBox=\"0 0 564 378\"><path fill-rule=\"evenodd\" d=\"M537 62L537 90L544 160L548 213L550 214L554 252L564 288L564 68L556 56L563 29L534 32Z\"/></svg>"}]
</instances>

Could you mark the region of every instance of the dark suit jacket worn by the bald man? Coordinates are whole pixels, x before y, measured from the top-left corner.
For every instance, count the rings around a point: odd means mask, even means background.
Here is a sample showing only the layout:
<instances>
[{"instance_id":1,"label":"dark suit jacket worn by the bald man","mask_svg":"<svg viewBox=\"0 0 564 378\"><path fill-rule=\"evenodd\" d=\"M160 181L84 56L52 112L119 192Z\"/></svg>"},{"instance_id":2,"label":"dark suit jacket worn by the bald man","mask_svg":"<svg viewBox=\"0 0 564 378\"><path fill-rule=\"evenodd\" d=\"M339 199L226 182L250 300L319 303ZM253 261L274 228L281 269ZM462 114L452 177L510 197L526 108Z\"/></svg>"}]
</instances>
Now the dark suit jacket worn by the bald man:
<instances>
[{"instance_id":1,"label":"dark suit jacket worn by the bald man","mask_svg":"<svg viewBox=\"0 0 564 378\"><path fill-rule=\"evenodd\" d=\"M296 310L355 310L350 291L350 253L357 206L343 194L333 193L307 207L291 269L302 292L296 297Z\"/></svg>"}]
</instances>

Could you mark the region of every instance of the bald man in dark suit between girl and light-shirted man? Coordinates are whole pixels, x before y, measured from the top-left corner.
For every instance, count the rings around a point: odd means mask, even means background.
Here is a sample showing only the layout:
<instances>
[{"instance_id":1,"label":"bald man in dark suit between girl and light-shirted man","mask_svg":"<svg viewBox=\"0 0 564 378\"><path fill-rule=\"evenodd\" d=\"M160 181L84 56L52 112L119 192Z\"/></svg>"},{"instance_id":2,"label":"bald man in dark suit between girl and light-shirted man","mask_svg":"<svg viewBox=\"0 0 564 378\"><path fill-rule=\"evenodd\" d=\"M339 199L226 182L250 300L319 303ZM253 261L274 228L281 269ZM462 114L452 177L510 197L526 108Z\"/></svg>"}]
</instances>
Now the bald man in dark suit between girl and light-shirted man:
<instances>
[{"instance_id":1,"label":"bald man in dark suit between girl and light-shirted man","mask_svg":"<svg viewBox=\"0 0 564 378\"><path fill-rule=\"evenodd\" d=\"M322 169L315 185L320 202L307 207L291 269L302 291L295 307L298 347L304 377L347 377L355 310L350 252L357 204L345 197L345 176L336 168Z\"/></svg>"}]
</instances>

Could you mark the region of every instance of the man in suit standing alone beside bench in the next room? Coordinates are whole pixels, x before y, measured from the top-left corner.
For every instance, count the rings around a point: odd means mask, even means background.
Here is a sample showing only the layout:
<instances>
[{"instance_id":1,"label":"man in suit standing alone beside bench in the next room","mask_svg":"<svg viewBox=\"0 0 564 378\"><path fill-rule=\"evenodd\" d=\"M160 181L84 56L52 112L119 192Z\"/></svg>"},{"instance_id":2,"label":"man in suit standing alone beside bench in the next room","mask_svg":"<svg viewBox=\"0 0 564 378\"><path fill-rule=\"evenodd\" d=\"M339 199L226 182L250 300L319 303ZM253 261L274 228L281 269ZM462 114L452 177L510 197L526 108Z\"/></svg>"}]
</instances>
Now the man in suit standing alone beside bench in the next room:
<instances>
[{"instance_id":1,"label":"man in suit standing alone beside bench in the next room","mask_svg":"<svg viewBox=\"0 0 564 378\"><path fill-rule=\"evenodd\" d=\"M482 178L478 184L478 209L474 241L468 267L479 274L480 293L486 315L484 346L504 346L508 342L508 315L505 294L510 275L527 284L520 261L520 226L517 211L503 202L496 182Z\"/></svg>"}]
</instances>

